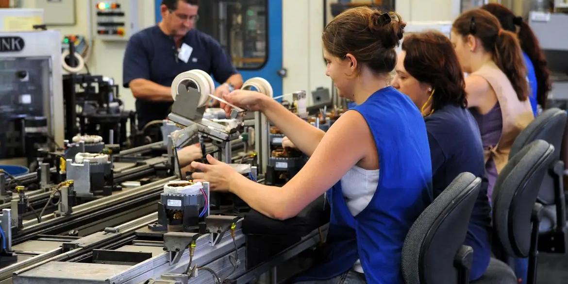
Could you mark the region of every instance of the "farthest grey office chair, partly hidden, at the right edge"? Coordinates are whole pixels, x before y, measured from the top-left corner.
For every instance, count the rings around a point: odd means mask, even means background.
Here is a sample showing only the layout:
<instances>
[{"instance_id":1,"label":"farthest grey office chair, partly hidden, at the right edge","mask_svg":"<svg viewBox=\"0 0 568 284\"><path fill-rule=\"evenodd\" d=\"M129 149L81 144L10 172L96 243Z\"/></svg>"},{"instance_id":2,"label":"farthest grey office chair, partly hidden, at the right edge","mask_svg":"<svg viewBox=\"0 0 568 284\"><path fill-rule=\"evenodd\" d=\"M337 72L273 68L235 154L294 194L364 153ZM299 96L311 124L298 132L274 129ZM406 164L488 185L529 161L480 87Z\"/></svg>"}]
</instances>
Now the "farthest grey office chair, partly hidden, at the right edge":
<instances>
[{"instance_id":1,"label":"farthest grey office chair, partly hidden, at the right edge","mask_svg":"<svg viewBox=\"0 0 568 284\"><path fill-rule=\"evenodd\" d=\"M562 181L564 162L560 158L567 118L566 111L558 108L550 108L542 112L519 133L509 153L509 158L511 158L525 145L537 139L554 146L554 158L542 179L537 198L537 201L544 206L538 237L538 250L542 252L565 253L568 243L566 203Z\"/></svg>"}]
</instances>

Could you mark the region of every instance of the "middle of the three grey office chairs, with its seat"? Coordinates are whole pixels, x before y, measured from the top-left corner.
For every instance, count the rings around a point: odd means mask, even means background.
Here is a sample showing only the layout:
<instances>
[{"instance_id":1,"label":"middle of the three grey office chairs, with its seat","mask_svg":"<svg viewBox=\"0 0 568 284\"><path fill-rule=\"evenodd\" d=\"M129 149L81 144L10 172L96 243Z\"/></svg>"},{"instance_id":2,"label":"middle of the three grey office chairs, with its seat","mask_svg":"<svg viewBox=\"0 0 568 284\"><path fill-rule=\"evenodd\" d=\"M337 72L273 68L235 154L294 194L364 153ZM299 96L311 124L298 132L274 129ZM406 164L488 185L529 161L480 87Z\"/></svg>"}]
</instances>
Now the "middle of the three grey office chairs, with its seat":
<instances>
[{"instance_id":1,"label":"middle of the three grey office chairs, with its seat","mask_svg":"<svg viewBox=\"0 0 568 284\"><path fill-rule=\"evenodd\" d=\"M536 283L538 225L542 205L536 203L546 169L554 160L554 147L536 140L509 159L493 188L494 253L503 260L509 256L529 258L528 284ZM487 272L475 284L515 284L512 269L491 259Z\"/></svg>"}]
</instances>

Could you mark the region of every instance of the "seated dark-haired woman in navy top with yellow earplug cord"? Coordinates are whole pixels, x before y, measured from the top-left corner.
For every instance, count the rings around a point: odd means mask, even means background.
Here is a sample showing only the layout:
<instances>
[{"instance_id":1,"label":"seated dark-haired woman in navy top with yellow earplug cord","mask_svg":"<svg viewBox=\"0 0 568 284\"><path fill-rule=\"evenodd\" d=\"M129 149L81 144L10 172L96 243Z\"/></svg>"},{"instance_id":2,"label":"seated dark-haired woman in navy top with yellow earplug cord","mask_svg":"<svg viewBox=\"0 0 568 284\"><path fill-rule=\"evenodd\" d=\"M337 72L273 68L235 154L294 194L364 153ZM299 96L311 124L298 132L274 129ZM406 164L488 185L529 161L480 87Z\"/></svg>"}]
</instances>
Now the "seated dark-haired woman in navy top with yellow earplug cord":
<instances>
[{"instance_id":1,"label":"seated dark-haired woman in navy top with yellow earplug cord","mask_svg":"<svg viewBox=\"0 0 568 284\"><path fill-rule=\"evenodd\" d=\"M462 172L483 177L483 147L475 119L466 109L463 74L448 37L428 31L404 37L392 85L420 109L432 155L432 185L436 197ZM473 248L470 279L489 264L491 207L487 183L482 183L465 244Z\"/></svg>"}]
</instances>

